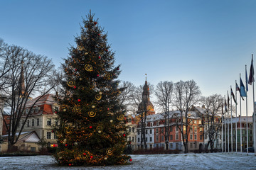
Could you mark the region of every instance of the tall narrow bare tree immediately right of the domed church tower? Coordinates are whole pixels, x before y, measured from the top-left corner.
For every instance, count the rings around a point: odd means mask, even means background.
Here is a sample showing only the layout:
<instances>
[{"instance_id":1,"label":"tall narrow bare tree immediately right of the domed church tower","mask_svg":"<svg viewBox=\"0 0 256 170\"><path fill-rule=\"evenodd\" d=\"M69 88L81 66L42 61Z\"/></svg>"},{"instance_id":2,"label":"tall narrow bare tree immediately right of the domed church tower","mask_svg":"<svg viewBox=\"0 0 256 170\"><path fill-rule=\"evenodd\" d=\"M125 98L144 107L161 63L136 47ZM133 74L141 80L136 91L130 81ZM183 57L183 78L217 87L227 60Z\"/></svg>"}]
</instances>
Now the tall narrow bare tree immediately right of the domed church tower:
<instances>
[{"instance_id":1,"label":"tall narrow bare tree immediately right of the domed church tower","mask_svg":"<svg viewBox=\"0 0 256 170\"><path fill-rule=\"evenodd\" d=\"M156 104L159 105L163 111L163 113L161 113L161 115L163 115L161 122L164 124L163 135L165 138L166 149L169 149L169 135L172 128L171 119L174 115L170 115L173 91L174 83L172 81L160 81L159 84L156 85Z\"/></svg>"}]
</instances>

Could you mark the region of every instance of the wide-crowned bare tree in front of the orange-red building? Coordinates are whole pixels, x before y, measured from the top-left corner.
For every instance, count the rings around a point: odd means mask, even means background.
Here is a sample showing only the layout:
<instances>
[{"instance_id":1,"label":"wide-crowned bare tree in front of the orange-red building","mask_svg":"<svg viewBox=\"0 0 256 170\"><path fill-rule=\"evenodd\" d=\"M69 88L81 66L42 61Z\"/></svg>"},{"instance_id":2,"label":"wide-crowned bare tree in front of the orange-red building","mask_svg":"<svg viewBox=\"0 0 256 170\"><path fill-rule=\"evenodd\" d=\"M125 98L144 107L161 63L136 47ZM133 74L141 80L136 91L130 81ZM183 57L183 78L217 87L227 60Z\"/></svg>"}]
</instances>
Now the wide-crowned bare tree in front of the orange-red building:
<instances>
[{"instance_id":1,"label":"wide-crowned bare tree in front of the orange-red building","mask_svg":"<svg viewBox=\"0 0 256 170\"><path fill-rule=\"evenodd\" d=\"M188 153L188 135L194 121L188 112L193 105L200 101L200 95L199 86L193 80L178 81L174 84L174 106L181 113L180 118L177 117L181 121L181 125L177 124L177 127L181 132L185 153Z\"/></svg>"}]
</instances>

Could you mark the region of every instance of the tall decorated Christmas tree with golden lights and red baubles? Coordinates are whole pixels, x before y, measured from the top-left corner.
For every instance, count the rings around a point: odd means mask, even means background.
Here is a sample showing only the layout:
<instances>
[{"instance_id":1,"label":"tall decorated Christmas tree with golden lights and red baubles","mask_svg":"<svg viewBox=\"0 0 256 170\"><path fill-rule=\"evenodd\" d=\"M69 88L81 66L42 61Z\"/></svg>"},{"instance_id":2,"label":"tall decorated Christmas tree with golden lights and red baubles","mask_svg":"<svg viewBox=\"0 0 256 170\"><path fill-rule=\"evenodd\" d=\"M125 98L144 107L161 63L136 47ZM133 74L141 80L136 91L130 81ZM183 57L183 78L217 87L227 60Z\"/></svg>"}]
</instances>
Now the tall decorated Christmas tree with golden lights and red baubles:
<instances>
[{"instance_id":1,"label":"tall decorated Christmas tree with golden lights and red baubles","mask_svg":"<svg viewBox=\"0 0 256 170\"><path fill-rule=\"evenodd\" d=\"M83 19L76 47L65 59L65 81L57 100L60 125L55 159L60 165L112 165L132 161L123 154L127 129L120 106L119 65L107 44L107 34L90 12Z\"/></svg>"}]
</instances>

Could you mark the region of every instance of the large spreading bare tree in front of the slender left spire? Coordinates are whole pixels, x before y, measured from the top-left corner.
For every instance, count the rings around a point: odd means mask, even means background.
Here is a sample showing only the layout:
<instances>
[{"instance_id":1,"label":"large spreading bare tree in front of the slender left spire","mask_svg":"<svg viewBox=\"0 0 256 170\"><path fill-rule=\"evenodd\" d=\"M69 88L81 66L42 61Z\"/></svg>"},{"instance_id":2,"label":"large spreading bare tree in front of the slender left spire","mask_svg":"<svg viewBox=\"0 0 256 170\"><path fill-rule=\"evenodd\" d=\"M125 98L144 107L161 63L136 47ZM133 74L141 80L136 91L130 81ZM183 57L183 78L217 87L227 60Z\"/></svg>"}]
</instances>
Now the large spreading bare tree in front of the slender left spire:
<instances>
[{"instance_id":1,"label":"large spreading bare tree in front of the slender left spire","mask_svg":"<svg viewBox=\"0 0 256 170\"><path fill-rule=\"evenodd\" d=\"M10 110L10 124L8 126L5 121L4 124L8 130L8 150L11 151L33 111L33 106L44 94L49 93L59 80L55 79L56 72L51 60L24 50L23 47L7 45L4 55L1 55L1 64L3 63L6 64L5 70L8 72L4 79L0 79L0 84L3 84L0 93L6 96L5 103ZM26 103L34 95L40 97L34 103L30 103L31 108L24 114ZM25 117L25 121L20 123L22 116ZM21 125L21 130L16 134L18 125Z\"/></svg>"}]
</instances>

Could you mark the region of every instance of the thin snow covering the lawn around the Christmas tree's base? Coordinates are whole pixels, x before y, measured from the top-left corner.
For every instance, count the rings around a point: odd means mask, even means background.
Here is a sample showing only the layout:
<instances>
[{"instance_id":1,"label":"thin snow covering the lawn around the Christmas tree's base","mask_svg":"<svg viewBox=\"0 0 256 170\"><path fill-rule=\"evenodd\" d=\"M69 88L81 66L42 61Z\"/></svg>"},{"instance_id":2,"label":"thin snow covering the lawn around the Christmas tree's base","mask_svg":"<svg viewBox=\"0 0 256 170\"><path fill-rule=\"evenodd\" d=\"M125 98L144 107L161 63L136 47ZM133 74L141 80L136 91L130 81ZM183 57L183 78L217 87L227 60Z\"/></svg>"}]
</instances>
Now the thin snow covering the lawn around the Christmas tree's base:
<instances>
[{"instance_id":1,"label":"thin snow covering the lawn around the Christmas tree's base","mask_svg":"<svg viewBox=\"0 0 256 170\"><path fill-rule=\"evenodd\" d=\"M0 169L256 169L254 153L147 154L131 155L132 162L122 166L58 166L50 156L0 157Z\"/></svg>"}]
</instances>

